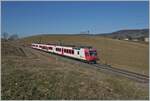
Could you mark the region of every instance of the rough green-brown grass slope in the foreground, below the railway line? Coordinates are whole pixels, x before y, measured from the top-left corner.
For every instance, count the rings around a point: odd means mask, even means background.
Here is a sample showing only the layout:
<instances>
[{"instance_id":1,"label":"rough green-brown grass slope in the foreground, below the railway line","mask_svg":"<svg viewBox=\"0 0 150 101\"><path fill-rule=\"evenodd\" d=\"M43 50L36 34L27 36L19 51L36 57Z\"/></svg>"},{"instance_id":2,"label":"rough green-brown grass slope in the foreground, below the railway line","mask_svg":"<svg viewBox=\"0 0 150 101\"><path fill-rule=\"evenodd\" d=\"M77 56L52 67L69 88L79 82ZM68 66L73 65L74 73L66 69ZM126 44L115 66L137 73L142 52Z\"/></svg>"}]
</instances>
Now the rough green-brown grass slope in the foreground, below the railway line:
<instances>
[{"instance_id":1,"label":"rough green-brown grass slope in the foreground, below the railway line","mask_svg":"<svg viewBox=\"0 0 150 101\"><path fill-rule=\"evenodd\" d=\"M85 39L91 41L91 45L94 44L94 39ZM50 38L45 41L48 40ZM68 37L68 40L71 38ZM30 41L28 39L25 42ZM99 43L102 44L102 41ZM16 42L2 42L3 100L149 99L148 84L140 84L80 64L59 61L50 54L19 45ZM95 46L101 45L96 43ZM103 48L100 49L103 51ZM107 59L103 56L104 53L101 52L103 61Z\"/></svg>"}]
</instances>

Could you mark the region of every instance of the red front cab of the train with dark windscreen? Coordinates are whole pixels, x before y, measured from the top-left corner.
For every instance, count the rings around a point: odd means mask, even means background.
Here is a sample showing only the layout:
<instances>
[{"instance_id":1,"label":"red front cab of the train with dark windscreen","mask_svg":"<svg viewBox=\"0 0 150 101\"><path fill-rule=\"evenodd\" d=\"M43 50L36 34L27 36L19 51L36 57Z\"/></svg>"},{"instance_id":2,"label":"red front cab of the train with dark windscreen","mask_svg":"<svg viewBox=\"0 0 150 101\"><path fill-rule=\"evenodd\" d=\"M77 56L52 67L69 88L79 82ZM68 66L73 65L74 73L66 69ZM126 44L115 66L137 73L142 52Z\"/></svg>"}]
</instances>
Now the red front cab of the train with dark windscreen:
<instances>
[{"instance_id":1,"label":"red front cab of the train with dark windscreen","mask_svg":"<svg viewBox=\"0 0 150 101\"><path fill-rule=\"evenodd\" d=\"M86 58L86 61L88 63L94 63L96 64L96 60L97 60L97 51L95 49L92 49L92 50L89 50L89 49L86 49L85 50L85 58Z\"/></svg>"}]
</instances>

